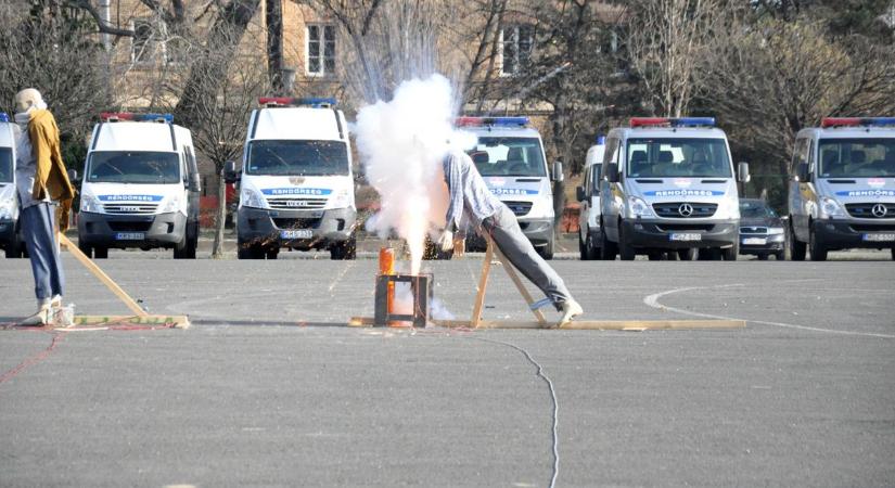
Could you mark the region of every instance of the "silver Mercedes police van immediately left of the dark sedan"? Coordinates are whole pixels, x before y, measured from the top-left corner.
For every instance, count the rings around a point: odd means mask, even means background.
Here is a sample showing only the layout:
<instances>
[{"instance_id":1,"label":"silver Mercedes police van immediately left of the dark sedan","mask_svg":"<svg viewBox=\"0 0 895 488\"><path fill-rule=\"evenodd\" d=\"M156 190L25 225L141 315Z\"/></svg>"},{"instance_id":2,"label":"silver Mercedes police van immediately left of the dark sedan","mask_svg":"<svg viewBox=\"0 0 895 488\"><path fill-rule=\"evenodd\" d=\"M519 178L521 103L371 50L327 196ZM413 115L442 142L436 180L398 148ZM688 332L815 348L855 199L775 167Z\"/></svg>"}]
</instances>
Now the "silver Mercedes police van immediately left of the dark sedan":
<instances>
[{"instance_id":1,"label":"silver Mercedes police van immediately left of the dark sedan","mask_svg":"<svg viewBox=\"0 0 895 488\"><path fill-rule=\"evenodd\" d=\"M631 118L606 139L601 255L737 259L740 208L730 149L713 117ZM739 180L749 180L740 163Z\"/></svg>"}]
</instances>

